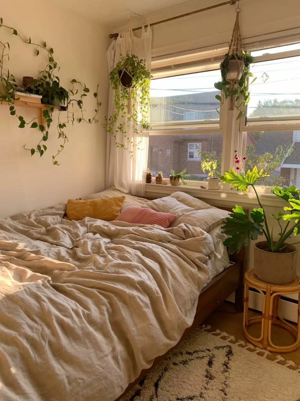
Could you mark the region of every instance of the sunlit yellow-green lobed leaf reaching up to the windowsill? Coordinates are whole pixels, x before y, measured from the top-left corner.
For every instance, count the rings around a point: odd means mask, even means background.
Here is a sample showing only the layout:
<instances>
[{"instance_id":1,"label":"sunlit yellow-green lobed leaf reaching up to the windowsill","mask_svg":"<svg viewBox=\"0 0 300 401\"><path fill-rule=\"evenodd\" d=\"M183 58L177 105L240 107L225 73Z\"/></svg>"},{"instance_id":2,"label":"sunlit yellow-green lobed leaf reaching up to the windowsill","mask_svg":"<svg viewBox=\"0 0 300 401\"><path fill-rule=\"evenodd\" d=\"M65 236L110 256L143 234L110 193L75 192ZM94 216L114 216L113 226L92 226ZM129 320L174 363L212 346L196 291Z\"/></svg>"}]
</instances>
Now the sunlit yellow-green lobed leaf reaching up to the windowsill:
<instances>
[{"instance_id":1,"label":"sunlit yellow-green lobed leaf reaching up to the windowsill","mask_svg":"<svg viewBox=\"0 0 300 401\"><path fill-rule=\"evenodd\" d=\"M259 180L260 177L268 177L269 174L264 174L264 170L260 170L258 172L257 167L255 166L252 171L248 170L246 175L241 172L237 174L232 168L230 171L225 171L224 176L220 176L223 182L227 182L231 184L232 187L230 189L238 188L238 192L247 192L248 186L255 184L256 181Z\"/></svg>"}]
</instances>

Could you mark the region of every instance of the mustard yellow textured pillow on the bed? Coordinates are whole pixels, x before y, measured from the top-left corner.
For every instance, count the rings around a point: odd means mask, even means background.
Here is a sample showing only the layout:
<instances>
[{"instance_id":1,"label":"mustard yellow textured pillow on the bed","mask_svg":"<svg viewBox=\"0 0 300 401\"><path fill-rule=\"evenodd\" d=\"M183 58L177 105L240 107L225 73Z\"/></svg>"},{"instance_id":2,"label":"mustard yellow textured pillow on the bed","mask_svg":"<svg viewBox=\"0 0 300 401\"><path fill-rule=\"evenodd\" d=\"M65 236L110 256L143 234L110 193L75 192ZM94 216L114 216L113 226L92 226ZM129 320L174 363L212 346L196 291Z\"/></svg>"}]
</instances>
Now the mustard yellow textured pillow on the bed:
<instances>
[{"instance_id":1,"label":"mustard yellow textured pillow on the bed","mask_svg":"<svg viewBox=\"0 0 300 401\"><path fill-rule=\"evenodd\" d=\"M66 210L67 218L70 220L82 220L84 217L93 217L94 219L112 221L120 214L124 201L125 196L88 199L87 201L69 199Z\"/></svg>"}]
</instances>

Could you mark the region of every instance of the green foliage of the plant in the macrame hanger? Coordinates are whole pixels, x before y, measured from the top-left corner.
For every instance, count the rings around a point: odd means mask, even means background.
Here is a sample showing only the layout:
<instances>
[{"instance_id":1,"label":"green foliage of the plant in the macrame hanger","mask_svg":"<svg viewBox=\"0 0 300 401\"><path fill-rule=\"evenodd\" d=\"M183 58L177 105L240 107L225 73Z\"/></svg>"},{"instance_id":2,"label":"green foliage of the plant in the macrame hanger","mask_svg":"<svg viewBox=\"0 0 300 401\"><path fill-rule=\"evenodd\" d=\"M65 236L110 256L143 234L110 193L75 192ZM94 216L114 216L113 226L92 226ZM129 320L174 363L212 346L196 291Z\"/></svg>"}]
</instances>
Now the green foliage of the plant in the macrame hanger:
<instances>
[{"instance_id":1,"label":"green foliage of the plant in the macrame hanger","mask_svg":"<svg viewBox=\"0 0 300 401\"><path fill-rule=\"evenodd\" d=\"M234 83L228 81L226 77L230 60L240 60L244 62L242 76L238 81ZM224 100L228 98L233 99L234 107L236 107L236 109L238 109L239 111L236 119L240 119L242 117L244 111L241 109L241 107L243 105L247 105L250 101L247 78L253 77L253 74L250 72L249 69L251 63L253 63L253 57L245 53L244 51L242 52L242 55L226 53L224 60L220 64L222 81L216 82L214 84L214 87L220 91L220 93L215 97L217 100L220 101L221 105L224 103ZM255 80L256 77L252 80L251 84Z\"/></svg>"}]
</instances>

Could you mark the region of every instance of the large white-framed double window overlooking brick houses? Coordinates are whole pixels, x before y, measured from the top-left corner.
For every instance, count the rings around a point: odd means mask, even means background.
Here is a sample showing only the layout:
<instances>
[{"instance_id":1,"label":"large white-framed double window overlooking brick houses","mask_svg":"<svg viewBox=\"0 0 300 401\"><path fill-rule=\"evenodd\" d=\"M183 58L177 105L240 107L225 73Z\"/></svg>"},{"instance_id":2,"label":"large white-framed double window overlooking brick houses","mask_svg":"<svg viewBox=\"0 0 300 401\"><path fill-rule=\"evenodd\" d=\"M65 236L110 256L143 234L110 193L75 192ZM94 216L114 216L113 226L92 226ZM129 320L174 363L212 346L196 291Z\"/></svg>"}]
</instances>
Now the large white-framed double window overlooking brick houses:
<instances>
[{"instance_id":1,"label":"large white-framed double window overlooking brick houses","mask_svg":"<svg viewBox=\"0 0 300 401\"><path fill-rule=\"evenodd\" d=\"M223 172L235 168L238 149L246 156L246 170L257 166L269 174L259 181L260 190L290 184L300 188L300 43L247 51L254 57L250 71L256 81L238 121L226 101L220 107L215 99L220 70L209 60L201 72L181 68L176 75L170 66L170 76L165 69L157 79L154 74L148 149L152 174L162 171L168 178L171 169L186 168L188 184L197 186L194 181L207 178L202 160L218 160Z\"/></svg>"}]
</instances>

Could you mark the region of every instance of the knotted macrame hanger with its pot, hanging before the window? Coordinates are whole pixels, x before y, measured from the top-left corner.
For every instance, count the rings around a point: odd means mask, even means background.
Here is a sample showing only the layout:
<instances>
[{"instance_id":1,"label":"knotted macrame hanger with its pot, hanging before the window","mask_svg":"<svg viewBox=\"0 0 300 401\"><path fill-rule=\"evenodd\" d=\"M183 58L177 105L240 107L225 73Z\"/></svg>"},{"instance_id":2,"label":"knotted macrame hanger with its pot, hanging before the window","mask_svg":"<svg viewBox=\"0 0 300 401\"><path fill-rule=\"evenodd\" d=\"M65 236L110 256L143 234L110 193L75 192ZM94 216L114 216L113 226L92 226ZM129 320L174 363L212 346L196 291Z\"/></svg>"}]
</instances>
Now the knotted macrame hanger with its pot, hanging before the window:
<instances>
[{"instance_id":1,"label":"knotted macrame hanger with its pot, hanging before the window","mask_svg":"<svg viewBox=\"0 0 300 401\"><path fill-rule=\"evenodd\" d=\"M240 7L236 8L236 22L234 24L234 28L232 31L232 38L230 41L230 45L228 48L229 53L229 63L228 70L226 74L227 81L231 82L230 90L231 92L234 90L235 85L240 81L240 78L244 69L244 61L243 61L243 45L242 45L242 36L240 33ZM232 60L231 57L234 57ZM240 56L241 60L238 59L237 56ZM229 110L234 110L234 96L230 96L229 101Z\"/></svg>"}]
</instances>

